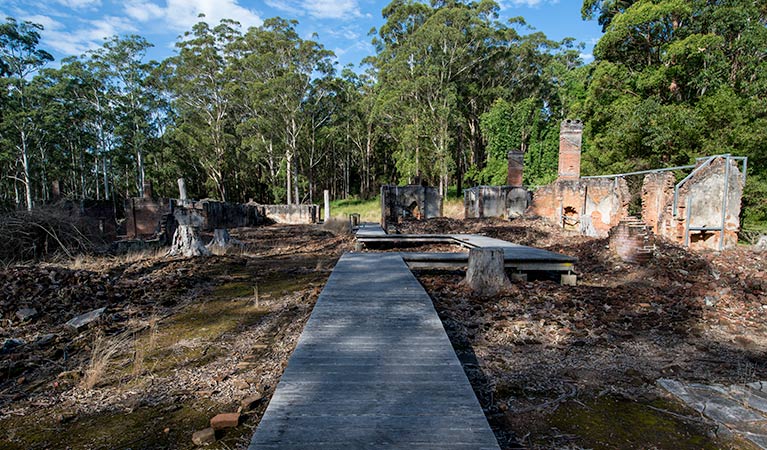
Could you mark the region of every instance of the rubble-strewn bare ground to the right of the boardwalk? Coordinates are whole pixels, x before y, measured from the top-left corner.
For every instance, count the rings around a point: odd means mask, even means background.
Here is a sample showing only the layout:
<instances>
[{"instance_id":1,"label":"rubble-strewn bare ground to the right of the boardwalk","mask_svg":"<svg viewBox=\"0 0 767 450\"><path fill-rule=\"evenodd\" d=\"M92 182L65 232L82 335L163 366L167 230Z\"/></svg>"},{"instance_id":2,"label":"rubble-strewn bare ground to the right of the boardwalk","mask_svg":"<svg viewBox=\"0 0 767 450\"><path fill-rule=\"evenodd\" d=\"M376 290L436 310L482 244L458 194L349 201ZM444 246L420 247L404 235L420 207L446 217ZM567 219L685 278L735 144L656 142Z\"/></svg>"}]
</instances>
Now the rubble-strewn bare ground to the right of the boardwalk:
<instances>
[{"instance_id":1,"label":"rubble-strewn bare ground to the right of the boardwalk","mask_svg":"<svg viewBox=\"0 0 767 450\"><path fill-rule=\"evenodd\" d=\"M658 242L645 266L606 239L535 220L436 219L408 233L480 233L579 258L577 287L532 276L491 299L460 273L420 273L504 448L750 448L672 401L658 378L767 378L767 255Z\"/></svg>"}]
</instances>

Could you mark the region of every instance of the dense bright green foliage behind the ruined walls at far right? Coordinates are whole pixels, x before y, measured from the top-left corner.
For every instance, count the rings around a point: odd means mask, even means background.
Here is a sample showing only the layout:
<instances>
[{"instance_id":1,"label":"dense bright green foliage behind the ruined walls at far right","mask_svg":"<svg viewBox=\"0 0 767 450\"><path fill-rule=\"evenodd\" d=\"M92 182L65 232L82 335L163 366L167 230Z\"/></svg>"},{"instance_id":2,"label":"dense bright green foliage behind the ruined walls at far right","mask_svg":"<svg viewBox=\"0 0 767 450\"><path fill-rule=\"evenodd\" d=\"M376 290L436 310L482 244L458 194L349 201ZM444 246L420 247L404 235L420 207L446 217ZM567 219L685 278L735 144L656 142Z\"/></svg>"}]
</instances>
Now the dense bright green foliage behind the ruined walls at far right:
<instances>
[{"instance_id":1,"label":"dense bright green foliage behind the ruined walls at far right","mask_svg":"<svg viewBox=\"0 0 767 450\"><path fill-rule=\"evenodd\" d=\"M767 16L758 2L586 0L605 34L585 100L584 171L749 157L744 222L764 220Z\"/></svg>"}]
</instances>

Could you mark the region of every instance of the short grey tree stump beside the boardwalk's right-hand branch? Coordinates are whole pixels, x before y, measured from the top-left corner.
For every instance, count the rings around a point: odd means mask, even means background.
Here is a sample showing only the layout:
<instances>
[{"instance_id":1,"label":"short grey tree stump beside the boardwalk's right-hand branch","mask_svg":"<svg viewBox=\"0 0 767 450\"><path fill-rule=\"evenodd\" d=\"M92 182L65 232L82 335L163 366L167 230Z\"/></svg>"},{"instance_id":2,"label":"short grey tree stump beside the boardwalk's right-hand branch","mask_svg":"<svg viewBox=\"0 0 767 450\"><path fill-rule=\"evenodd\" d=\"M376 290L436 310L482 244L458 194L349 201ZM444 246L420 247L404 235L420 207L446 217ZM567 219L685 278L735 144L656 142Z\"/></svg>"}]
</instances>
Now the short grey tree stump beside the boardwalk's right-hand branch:
<instances>
[{"instance_id":1,"label":"short grey tree stump beside the boardwalk's right-hand branch","mask_svg":"<svg viewBox=\"0 0 767 450\"><path fill-rule=\"evenodd\" d=\"M491 297L511 287L504 271L502 248L472 248L469 250L469 268L461 283L477 295Z\"/></svg>"}]
</instances>

